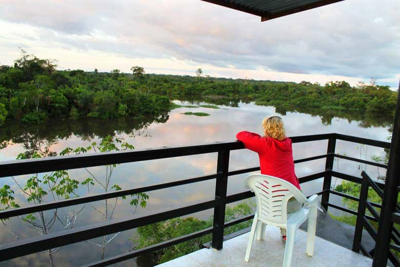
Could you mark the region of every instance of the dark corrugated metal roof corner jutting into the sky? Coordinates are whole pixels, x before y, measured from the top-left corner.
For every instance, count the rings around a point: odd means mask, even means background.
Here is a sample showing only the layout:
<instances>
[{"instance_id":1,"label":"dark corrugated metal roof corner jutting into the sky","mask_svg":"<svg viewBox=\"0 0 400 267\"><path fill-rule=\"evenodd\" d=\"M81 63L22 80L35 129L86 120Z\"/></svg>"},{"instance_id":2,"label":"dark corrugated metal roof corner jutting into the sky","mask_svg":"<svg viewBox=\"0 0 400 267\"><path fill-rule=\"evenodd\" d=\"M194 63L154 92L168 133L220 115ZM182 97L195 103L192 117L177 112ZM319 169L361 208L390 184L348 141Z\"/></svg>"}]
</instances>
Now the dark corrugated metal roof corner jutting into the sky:
<instances>
[{"instance_id":1,"label":"dark corrugated metal roof corner jutting into the sky","mask_svg":"<svg viewBox=\"0 0 400 267\"><path fill-rule=\"evenodd\" d=\"M326 6L344 0L202 0L261 17L261 21Z\"/></svg>"}]
</instances>

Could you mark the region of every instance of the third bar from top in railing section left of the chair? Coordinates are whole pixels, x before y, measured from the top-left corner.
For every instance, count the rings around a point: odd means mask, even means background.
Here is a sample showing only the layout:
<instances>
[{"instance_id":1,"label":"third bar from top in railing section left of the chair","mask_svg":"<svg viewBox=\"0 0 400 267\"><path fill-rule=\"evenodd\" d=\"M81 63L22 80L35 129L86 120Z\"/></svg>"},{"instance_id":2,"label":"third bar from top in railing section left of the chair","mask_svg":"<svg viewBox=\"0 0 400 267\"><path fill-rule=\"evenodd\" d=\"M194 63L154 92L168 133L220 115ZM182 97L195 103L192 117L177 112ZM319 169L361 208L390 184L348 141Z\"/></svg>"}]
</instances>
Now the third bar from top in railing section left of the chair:
<instances>
[{"instance_id":1,"label":"third bar from top in railing section left of the chair","mask_svg":"<svg viewBox=\"0 0 400 267\"><path fill-rule=\"evenodd\" d=\"M85 227L61 231L58 233L19 240L0 246L0 261L21 257L51 248L61 247L63 245L68 245L99 236L138 228L150 223L208 210L214 208L214 206L215 200L210 200L207 202L140 218L117 220L113 222L101 222L94 225L87 225Z\"/></svg>"}]
</instances>

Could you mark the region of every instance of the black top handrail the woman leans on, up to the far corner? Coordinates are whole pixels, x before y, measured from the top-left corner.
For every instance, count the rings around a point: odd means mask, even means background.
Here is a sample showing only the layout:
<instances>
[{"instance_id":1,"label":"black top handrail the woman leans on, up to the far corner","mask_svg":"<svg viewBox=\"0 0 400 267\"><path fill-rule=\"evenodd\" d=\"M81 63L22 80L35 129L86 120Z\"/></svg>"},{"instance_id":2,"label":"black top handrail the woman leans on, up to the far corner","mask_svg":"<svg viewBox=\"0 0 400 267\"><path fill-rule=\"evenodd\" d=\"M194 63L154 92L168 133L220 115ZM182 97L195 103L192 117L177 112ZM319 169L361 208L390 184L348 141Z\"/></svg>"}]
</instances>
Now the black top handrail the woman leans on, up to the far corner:
<instances>
[{"instance_id":1,"label":"black top handrail the woman leans on, up to the far corner","mask_svg":"<svg viewBox=\"0 0 400 267\"><path fill-rule=\"evenodd\" d=\"M316 134L291 137L292 142L323 140L334 134ZM35 159L22 159L0 162L0 177L43 173L58 170L71 170L94 166L137 162L152 159L190 156L213 153L223 150L244 149L241 141L213 142L184 147L163 147L141 150L124 150L78 155L55 156Z\"/></svg>"}]
</instances>

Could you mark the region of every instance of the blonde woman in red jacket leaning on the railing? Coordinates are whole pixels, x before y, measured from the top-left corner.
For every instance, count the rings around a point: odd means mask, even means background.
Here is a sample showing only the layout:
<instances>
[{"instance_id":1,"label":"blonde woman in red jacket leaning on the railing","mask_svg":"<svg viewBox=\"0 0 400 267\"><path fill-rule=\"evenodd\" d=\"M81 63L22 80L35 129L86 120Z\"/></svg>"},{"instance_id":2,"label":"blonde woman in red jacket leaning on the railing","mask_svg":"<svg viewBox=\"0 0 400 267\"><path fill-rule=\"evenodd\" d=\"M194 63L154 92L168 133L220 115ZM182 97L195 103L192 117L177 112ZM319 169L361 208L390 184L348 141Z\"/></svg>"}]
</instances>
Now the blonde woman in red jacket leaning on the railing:
<instances>
[{"instance_id":1,"label":"blonde woman in red jacket leaning on the railing","mask_svg":"<svg viewBox=\"0 0 400 267\"><path fill-rule=\"evenodd\" d=\"M275 176L294 184L301 190L294 173L292 140L286 136L281 117L271 116L263 120L264 136L247 131L239 132L236 138L247 149L258 153L261 174ZM288 201L287 212L298 211L302 204L292 197ZM286 241L286 229L281 228L282 241Z\"/></svg>"}]
</instances>

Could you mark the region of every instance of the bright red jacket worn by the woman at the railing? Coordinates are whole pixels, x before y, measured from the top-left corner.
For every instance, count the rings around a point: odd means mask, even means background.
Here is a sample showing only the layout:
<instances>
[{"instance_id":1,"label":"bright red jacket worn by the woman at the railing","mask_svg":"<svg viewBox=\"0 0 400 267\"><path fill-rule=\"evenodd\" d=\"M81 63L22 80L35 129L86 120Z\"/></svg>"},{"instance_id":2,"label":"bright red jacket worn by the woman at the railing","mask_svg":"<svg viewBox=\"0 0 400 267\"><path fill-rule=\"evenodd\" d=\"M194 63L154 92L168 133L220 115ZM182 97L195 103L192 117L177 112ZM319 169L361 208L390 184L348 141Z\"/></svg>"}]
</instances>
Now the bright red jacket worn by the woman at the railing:
<instances>
[{"instance_id":1,"label":"bright red jacket worn by the woman at the railing","mask_svg":"<svg viewBox=\"0 0 400 267\"><path fill-rule=\"evenodd\" d=\"M247 149L258 153L261 174L284 179L301 189L294 173L292 140L290 138L286 137L279 141L247 131L237 133L236 138L242 141Z\"/></svg>"}]
</instances>

